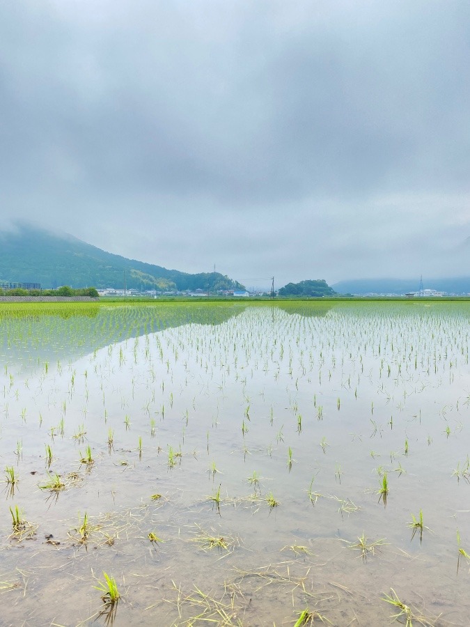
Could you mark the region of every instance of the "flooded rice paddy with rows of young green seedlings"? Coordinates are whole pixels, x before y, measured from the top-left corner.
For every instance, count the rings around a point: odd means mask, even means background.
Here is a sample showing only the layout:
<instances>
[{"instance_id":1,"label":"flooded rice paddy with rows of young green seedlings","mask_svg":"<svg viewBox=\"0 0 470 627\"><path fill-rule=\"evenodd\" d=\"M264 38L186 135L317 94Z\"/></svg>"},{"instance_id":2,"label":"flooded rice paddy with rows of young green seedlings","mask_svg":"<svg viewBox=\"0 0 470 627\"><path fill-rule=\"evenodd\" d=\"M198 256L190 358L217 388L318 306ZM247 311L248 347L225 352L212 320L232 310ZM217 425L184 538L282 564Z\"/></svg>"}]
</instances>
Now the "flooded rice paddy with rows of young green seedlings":
<instances>
[{"instance_id":1,"label":"flooded rice paddy with rows of young green seedlings","mask_svg":"<svg viewBox=\"0 0 470 627\"><path fill-rule=\"evenodd\" d=\"M467 303L2 306L0 624L467 625L469 341Z\"/></svg>"}]
</instances>

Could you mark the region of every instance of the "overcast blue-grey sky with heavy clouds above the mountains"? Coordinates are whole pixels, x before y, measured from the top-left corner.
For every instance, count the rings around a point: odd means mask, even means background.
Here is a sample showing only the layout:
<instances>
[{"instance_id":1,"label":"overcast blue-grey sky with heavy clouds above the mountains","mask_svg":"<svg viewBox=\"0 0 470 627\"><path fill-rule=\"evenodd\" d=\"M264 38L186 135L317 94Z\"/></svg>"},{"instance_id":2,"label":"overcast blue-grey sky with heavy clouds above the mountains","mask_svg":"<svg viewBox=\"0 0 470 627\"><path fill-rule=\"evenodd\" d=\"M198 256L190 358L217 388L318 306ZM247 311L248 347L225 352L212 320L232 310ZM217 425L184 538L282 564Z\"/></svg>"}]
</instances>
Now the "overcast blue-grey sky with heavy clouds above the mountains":
<instances>
[{"instance_id":1,"label":"overcast blue-grey sky with heavy clouds above the mountains","mask_svg":"<svg viewBox=\"0 0 470 627\"><path fill-rule=\"evenodd\" d=\"M469 0L6 0L0 224L248 286L468 275L469 74Z\"/></svg>"}]
</instances>

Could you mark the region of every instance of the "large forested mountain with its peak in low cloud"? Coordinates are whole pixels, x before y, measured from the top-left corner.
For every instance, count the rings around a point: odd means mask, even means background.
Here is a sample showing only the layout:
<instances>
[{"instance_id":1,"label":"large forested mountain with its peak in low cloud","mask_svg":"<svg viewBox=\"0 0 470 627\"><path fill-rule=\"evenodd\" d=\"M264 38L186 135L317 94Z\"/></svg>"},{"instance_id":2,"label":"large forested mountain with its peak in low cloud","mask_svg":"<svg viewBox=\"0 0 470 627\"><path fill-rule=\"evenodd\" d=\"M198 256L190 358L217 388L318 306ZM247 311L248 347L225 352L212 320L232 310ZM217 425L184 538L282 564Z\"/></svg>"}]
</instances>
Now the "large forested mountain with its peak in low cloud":
<instances>
[{"instance_id":1,"label":"large forested mountain with its peak in low cloud","mask_svg":"<svg viewBox=\"0 0 470 627\"><path fill-rule=\"evenodd\" d=\"M188 274L111 254L67 233L29 224L0 232L0 282L40 283L43 288L123 288L157 290L242 289L219 272Z\"/></svg>"}]
</instances>

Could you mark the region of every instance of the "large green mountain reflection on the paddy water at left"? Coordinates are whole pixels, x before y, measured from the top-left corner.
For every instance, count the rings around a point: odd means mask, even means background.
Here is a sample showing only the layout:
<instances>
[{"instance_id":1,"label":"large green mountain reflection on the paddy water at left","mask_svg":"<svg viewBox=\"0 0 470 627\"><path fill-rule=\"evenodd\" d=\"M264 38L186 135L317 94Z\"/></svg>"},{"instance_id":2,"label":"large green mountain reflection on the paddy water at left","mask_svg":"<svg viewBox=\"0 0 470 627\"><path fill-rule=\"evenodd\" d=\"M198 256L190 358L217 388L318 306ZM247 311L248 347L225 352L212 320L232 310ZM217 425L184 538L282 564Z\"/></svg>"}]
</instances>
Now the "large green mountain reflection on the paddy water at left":
<instances>
[{"instance_id":1,"label":"large green mountain reflection on the paddy water at left","mask_svg":"<svg viewBox=\"0 0 470 627\"><path fill-rule=\"evenodd\" d=\"M219 325L243 311L243 304L203 302L96 305L36 304L0 307L0 359L31 368L45 359L77 359L94 350L169 327Z\"/></svg>"}]
</instances>

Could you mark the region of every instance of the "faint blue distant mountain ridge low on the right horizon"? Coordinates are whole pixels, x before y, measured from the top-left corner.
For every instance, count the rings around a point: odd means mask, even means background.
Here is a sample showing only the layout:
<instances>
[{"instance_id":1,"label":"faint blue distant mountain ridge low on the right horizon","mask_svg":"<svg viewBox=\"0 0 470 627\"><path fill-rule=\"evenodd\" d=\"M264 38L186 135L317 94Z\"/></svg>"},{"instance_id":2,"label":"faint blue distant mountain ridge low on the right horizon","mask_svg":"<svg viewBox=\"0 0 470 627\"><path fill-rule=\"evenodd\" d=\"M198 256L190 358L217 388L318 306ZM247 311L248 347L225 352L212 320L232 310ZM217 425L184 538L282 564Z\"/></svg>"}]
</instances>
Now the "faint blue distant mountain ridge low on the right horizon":
<instances>
[{"instance_id":1,"label":"faint blue distant mountain ridge low on the right horizon","mask_svg":"<svg viewBox=\"0 0 470 627\"><path fill-rule=\"evenodd\" d=\"M338 281L333 286L340 294L396 294L419 290L417 279L354 279ZM470 293L470 277L454 277L448 279L423 279L423 288L446 292L448 294Z\"/></svg>"}]
</instances>

